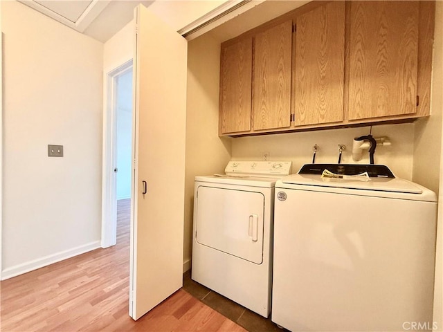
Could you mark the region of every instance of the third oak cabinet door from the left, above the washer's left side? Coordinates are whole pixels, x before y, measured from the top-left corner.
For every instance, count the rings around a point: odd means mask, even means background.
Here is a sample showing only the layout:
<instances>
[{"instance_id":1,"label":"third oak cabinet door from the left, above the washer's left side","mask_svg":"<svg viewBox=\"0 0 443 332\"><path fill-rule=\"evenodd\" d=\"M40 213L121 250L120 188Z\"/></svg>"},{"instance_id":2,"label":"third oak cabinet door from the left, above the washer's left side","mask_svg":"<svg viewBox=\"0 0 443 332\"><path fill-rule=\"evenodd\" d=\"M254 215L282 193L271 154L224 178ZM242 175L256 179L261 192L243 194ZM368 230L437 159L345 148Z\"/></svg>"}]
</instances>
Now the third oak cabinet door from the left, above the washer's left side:
<instances>
[{"instance_id":1,"label":"third oak cabinet door from the left, above the washer's left side","mask_svg":"<svg viewBox=\"0 0 443 332\"><path fill-rule=\"evenodd\" d=\"M343 120L345 3L300 15L296 30L296 126Z\"/></svg>"}]
</instances>

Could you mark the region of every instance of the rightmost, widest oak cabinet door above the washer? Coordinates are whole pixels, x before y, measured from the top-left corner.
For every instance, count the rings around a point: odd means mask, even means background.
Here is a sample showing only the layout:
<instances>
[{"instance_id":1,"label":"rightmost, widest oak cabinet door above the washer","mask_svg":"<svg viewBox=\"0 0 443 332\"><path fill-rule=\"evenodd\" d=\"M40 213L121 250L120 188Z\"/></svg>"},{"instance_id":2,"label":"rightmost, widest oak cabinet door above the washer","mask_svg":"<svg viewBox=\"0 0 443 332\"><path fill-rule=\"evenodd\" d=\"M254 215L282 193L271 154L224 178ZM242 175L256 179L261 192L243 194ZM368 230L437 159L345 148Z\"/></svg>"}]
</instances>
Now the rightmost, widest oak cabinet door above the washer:
<instances>
[{"instance_id":1,"label":"rightmost, widest oak cabinet door above the washer","mask_svg":"<svg viewBox=\"0 0 443 332\"><path fill-rule=\"evenodd\" d=\"M418 1L351 1L349 119L415 113Z\"/></svg>"}]
</instances>

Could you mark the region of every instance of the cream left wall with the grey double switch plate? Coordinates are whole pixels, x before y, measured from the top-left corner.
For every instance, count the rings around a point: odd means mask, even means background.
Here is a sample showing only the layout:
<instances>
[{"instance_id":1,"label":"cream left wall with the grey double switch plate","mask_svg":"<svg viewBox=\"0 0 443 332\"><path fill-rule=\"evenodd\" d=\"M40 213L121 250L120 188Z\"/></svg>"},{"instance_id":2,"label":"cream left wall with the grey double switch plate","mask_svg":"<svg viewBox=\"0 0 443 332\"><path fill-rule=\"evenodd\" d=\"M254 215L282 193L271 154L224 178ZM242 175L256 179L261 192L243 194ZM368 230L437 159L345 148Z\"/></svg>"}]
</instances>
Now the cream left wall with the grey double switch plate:
<instances>
[{"instance_id":1,"label":"cream left wall with the grey double switch plate","mask_svg":"<svg viewBox=\"0 0 443 332\"><path fill-rule=\"evenodd\" d=\"M99 246L103 46L16 1L1 30L4 279Z\"/></svg>"}]
</instances>

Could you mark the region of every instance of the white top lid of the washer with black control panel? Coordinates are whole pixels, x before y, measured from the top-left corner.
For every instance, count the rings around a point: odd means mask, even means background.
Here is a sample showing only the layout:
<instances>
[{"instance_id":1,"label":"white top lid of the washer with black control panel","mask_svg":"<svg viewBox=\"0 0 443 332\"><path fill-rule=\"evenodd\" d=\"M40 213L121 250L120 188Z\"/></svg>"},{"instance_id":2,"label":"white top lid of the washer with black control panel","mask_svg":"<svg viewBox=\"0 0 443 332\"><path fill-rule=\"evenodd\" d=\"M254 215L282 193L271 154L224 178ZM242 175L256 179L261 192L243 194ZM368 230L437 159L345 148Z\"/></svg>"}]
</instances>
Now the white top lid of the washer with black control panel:
<instances>
[{"instance_id":1,"label":"white top lid of the washer with black control panel","mask_svg":"<svg viewBox=\"0 0 443 332\"><path fill-rule=\"evenodd\" d=\"M291 174L282 178L282 183L375 190L380 192L404 192L408 194L422 194L423 192L423 187L402 178L363 178L356 180L347 178L322 178L316 174Z\"/></svg>"}]
</instances>

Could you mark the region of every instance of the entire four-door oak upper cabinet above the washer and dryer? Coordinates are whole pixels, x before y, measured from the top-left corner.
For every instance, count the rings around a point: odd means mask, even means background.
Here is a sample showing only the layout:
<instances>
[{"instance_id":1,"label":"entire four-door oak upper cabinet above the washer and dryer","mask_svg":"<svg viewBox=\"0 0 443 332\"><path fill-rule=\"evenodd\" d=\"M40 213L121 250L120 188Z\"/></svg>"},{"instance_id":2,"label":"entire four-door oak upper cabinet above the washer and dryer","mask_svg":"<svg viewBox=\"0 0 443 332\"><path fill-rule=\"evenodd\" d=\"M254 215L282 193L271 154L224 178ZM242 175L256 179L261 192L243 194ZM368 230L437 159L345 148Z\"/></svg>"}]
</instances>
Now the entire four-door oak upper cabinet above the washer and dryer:
<instances>
[{"instance_id":1,"label":"entire four-door oak upper cabinet above the washer and dryer","mask_svg":"<svg viewBox=\"0 0 443 332\"><path fill-rule=\"evenodd\" d=\"M434 26L435 1L311 1L224 42L219 135L428 116Z\"/></svg>"}]
</instances>

